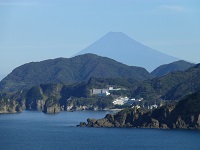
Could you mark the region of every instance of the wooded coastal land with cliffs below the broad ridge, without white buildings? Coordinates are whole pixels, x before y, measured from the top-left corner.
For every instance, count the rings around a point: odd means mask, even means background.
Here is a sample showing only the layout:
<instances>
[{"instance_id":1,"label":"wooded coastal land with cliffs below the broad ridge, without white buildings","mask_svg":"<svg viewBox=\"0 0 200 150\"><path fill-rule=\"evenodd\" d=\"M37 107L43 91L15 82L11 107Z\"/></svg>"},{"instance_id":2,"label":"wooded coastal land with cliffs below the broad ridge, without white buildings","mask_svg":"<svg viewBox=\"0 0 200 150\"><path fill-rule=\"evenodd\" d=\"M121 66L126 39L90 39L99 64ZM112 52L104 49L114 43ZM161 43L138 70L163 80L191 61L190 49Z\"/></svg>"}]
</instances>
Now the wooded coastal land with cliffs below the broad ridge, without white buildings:
<instances>
[{"instance_id":1,"label":"wooded coastal land with cliffs below the broad ridge, without white buildings","mask_svg":"<svg viewBox=\"0 0 200 150\"><path fill-rule=\"evenodd\" d=\"M33 86L15 94L2 94L1 110L42 110L46 113L56 113L60 110L102 110L113 108L112 101L118 96L144 98L140 106L160 104L163 100L179 100L184 96L200 90L200 65L186 71L170 73L152 80L138 81L133 78L90 78L77 84L49 83ZM123 90L111 91L111 96L99 98L91 95L93 88L116 86ZM9 103L6 99L10 99ZM4 101L3 101L4 100ZM12 102L15 105L10 105ZM6 106L6 107L5 107ZM12 107L11 107L12 106ZM13 107L14 106L14 107ZM115 108L130 107L115 106ZM13 109L14 108L14 109Z\"/></svg>"}]
</instances>

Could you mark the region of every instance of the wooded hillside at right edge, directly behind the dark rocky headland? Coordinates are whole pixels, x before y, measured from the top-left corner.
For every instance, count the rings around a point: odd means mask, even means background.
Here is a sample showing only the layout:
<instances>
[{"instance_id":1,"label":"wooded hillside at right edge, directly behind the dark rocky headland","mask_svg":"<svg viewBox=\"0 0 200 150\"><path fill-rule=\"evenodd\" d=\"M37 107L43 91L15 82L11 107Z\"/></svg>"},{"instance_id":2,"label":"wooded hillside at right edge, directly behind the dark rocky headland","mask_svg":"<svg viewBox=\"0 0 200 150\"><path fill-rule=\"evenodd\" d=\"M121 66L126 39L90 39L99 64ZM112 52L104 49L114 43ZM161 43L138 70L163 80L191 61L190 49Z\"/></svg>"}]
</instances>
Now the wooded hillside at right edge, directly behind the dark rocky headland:
<instances>
[{"instance_id":1,"label":"wooded hillside at right edge, directly behind the dark rocky headland","mask_svg":"<svg viewBox=\"0 0 200 150\"><path fill-rule=\"evenodd\" d=\"M133 92L134 96L147 99L162 98L174 100L200 90L200 64L187 69L157 77L151 81L141 83Z\"/></svg>"}]
</instances>

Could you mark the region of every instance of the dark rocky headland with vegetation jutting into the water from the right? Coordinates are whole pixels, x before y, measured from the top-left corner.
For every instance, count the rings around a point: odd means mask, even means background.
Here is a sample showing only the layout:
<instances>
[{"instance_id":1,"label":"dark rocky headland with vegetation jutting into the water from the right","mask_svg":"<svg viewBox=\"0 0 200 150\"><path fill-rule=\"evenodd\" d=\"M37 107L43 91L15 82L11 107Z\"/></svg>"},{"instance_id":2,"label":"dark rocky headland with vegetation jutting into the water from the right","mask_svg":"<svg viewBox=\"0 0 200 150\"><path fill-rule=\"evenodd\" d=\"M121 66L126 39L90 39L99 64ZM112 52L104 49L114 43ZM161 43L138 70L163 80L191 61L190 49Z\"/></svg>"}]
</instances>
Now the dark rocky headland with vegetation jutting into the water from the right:
<instances>
[{"instance_id":1,"label":"dark rocky headland with vegetation jutting into the water from the right","mask_svg":"<svg viewBox=\"0 0 200 150\"><path fill-rule=\"evenodd\" d=\"M200 91L187 96L177 104L154 110L125 109L103 119L88 119L80 126L88 127L139 127L200 129Z\"/></svg>"}]
</instances>

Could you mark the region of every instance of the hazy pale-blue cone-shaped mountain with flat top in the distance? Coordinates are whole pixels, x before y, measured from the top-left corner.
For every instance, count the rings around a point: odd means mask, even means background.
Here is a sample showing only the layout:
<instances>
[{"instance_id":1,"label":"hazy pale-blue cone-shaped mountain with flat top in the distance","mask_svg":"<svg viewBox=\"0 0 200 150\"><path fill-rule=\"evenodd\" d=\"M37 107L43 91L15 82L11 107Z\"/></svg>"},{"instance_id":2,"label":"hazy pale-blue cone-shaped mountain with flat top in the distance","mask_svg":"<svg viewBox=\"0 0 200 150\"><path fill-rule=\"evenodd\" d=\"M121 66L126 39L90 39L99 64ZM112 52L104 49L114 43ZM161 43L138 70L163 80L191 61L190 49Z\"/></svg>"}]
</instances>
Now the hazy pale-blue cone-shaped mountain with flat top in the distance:
<instances>
[{"instance_id":1,"label":"hazy pale-blue cone-shaped mountain with flat top in the distance","mask_svg":"<svg viewBox=\"0 0 200 150\"><path fill-rule=\"evenodd\" d=\"M77 55L93 53L106 56L130 66L144 67L148 71L171 63L178 58L163 54L145 46L122 32L109 32Z\"/></svg>"}]
</instances>

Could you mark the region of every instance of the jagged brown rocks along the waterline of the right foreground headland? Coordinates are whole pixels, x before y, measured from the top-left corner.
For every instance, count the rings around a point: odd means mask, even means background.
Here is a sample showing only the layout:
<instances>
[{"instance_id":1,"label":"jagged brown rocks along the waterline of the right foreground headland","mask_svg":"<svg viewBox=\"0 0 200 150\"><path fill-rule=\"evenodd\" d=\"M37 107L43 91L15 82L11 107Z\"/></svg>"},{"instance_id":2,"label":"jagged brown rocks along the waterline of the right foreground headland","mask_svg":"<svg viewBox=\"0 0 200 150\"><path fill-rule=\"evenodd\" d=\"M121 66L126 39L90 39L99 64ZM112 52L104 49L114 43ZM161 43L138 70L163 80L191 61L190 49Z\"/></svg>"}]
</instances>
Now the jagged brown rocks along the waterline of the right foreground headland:
<instances>
[{"instance_id":1,"label":"jagged brown rocks along the waterline of the right foreground headland","mask_svg":"<svg viewBox=\"0 0 200 150\"><path fill-rule=\"evenodd\" d=\"M107 114L102 119L87 119L86 123L80 123L79 126L84 127L137 127L137 128L179 128L179 129L200 129L200 114L179 116L175 122L163 123L163 120L150 118L151 113L139 112L139 114L131 111L131 113L117 113L115 115Z\"/></svg>"}]
</instances>

